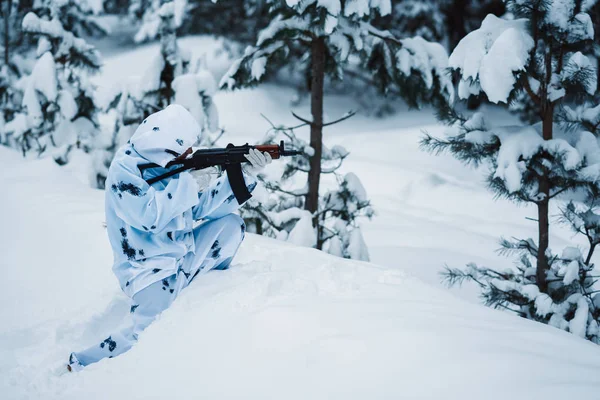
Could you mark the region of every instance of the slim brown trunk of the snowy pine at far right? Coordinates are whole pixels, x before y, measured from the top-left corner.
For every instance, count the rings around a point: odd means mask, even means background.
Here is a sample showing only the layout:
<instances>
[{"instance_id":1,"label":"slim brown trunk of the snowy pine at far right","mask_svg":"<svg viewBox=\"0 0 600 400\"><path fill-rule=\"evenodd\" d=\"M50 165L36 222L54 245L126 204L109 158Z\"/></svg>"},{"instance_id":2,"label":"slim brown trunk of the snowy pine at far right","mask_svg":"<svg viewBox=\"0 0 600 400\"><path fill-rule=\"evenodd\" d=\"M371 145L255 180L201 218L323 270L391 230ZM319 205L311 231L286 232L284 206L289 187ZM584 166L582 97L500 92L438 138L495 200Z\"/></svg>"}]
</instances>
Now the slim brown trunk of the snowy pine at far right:
<instances>
[{"instance_id":1,"label":"slim brown trunk of the snowy pine at far right","mask_svg":"<svg viewBox=\"0 0 600 400\"><path fill-rule=\"evenodd\" d=\"M552 124L554 122L554 105L548 105L548 109L544 113L544 119L542 121L542 136L544 140L552 139ZM548 257L546 257L546 251L549 245L549 205L550 205L550 181L546 173L540 178L540 194L544 198L537 203L538 206L538 254L537 254L537 268L536 268L536 280L540 291L546 293L548 291L548 282L546 279L546 272L550 269L548 265Z\"/></svg>"}]
</instances>

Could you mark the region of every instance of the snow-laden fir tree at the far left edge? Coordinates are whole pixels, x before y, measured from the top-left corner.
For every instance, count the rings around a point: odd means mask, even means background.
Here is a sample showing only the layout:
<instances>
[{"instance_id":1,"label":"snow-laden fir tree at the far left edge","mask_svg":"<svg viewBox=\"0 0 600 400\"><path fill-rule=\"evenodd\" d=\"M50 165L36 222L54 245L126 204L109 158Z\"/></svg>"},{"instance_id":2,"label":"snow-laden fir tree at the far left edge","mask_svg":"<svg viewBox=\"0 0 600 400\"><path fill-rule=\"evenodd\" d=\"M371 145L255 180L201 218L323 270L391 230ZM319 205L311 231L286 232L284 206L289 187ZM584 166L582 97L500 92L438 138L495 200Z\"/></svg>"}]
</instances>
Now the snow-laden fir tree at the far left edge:
<instances>
[{"instance_id":1,"label":"snow-laden fir tree at the far left edge","mask_svg":"<svg viewBox=\"0 0 600 400\"><path fill-rule=\"evenodd\" d=\"M81 1L36 2L25 15L23 32L37 40L36 61L18 85L22 102L4 134L25 154L52 150L65 164L74 148L89 152L98 134L98 107L89 78L101 66L96 49L68 28L95 26L85 21Z\"/></svg>"}]
</instances>

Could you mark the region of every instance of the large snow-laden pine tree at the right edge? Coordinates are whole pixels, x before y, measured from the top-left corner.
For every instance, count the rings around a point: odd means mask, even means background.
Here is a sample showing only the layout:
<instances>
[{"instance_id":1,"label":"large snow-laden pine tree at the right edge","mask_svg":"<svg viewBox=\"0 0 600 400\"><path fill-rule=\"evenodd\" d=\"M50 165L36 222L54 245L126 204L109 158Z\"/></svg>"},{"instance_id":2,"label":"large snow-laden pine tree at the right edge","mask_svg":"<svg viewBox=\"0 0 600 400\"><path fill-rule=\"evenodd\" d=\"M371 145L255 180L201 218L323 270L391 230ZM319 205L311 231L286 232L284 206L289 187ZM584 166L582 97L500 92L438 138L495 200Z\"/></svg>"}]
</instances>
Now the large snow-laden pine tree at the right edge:
<instances>
[{"instance_id":1,"label":"large snow-laden pine tree at the right edge","mask_svg":"<svg viewBox=\"0 0 600 400\"><path fill-rule=\"evenodd\" d=\"M450 67L460 75L460 98L481 94L506 104L525 93L535 104L536 123L490 127L482 114L463 118L446 109L441 115L451 123L447 137L426 136L423 145L449 151L465 163L489 165L488 183L496 196L537 209L537 240L501 242L504 253L520 255L516 268L496 271L470 264L466 270L447 269L447 281L473 280L490 306L600 342L592 264L600 241L600 108L594 104L596 70L584 55L594 37L585 5L507 1L514 20L486 17L450 56ZM569 193L579 200L565 204ZM563 204L562 220L587 237L585 254L574 247L550 248L554 200Z\"/></svg>"}]
</instances>

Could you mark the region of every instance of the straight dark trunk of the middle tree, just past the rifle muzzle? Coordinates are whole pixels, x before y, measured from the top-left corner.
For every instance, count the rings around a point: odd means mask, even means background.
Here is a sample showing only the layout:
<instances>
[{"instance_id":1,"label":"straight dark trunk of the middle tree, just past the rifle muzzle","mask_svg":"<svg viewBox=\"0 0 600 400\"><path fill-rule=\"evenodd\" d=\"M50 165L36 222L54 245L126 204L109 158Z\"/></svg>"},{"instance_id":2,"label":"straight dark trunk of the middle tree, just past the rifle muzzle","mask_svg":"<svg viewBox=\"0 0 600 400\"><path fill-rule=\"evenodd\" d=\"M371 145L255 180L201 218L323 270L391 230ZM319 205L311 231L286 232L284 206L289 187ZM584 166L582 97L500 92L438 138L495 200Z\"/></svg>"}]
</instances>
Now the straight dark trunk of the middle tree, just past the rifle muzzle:
<instances>
[{"instance_id":1,"label":"straight dark trunk of the middle tree, just past the rifle muzzle","mask_svg":"<svg viewBox=\"0 0 600 400\"><path fill-rule=\"evenodd\" d=\"M323 152L323 85L325 81L325 39L315 38L311 48L311 81L310 109L312 123L310 124L310 146L315 153L310 158L308 172L308 193L306 194L305 209L313 213L313 226L317 227L319 209L319 183L321 180L321 154ZM320 240L317 242L320 243ZM319 247L319 246L317 246Z\"/></svg>"}]
</instances>

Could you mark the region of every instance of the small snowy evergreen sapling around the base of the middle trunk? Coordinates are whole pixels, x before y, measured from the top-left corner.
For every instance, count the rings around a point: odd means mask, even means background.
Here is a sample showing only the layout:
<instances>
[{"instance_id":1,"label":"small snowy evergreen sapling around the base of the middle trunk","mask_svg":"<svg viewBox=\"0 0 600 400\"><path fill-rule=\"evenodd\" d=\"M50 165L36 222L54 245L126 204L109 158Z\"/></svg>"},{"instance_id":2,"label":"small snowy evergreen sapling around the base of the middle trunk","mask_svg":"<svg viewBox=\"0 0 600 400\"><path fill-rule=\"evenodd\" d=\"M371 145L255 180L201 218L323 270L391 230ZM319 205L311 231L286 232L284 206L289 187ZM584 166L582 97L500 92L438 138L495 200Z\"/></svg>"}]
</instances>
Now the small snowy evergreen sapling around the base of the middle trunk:
<instances>
[{"instance_id":1,"label":"small snowy evergreen sapling around the base of the middle trunk","mask_svg":"<svg viewBox=\"0 0 600 400\"><path fill-rule=\"evenodd\" d=\"M348 114L347 117L352 114ZM367 193L354 173L341 174L348 151L342 146L323 146L322 173L330 182L319 198L317 226L313 227L313 215L304 209L307 190L309 156L313 150L309 144L294 133L305 124L286 128L275 127L267 133L265 143L284 140L287 146L303 151L304 156L292 157L283 169L274 168L259 175L259 186L254 197L242 208L242 217L248 229L262 235L291 243L317 247L330 254L363 261L369 260L369 252L359 226L360 217L373 215Z\"/></svg>"}]
</instances>

